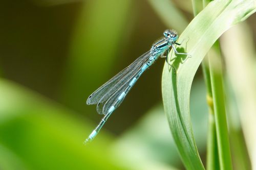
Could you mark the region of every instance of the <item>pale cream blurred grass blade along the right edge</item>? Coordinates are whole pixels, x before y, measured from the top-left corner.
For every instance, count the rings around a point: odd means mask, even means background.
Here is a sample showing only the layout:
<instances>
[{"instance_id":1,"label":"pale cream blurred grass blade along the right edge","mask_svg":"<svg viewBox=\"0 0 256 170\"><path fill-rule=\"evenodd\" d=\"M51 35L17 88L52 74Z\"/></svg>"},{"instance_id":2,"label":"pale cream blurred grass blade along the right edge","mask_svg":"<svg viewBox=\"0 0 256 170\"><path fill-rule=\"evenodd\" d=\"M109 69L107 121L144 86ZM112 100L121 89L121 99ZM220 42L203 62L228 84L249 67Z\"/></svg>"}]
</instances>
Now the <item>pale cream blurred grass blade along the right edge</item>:
<instances>
[{"instance_id":1,"label":"pale cream blurred grass blade along the right edge","mask_svg":"<svg viewBox=\"0 0 256 170\"><path fill-rule=\"evenodd\" d=\"M251 30L243 23L227 31L221 39L221 44L228 77L238 104L252 169L256 169L256 53L252 37Z\"/></svg>"}]
</instances>

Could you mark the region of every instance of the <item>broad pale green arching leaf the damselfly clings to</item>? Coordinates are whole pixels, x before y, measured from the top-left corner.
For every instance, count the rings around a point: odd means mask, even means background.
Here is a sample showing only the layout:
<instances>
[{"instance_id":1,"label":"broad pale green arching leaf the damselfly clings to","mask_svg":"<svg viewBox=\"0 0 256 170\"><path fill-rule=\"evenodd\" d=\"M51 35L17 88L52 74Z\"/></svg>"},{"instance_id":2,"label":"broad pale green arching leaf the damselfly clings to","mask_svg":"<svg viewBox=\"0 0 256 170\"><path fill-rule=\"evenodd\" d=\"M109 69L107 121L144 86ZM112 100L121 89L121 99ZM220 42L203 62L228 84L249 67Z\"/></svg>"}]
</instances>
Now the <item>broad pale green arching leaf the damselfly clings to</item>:
<instances>
[{"instance_id":1,"label":"broad pale green arching leaf the damselfly clings to","mask_svg":"<svg viewBox=\"0 0 256 170\"><path fill-rule=\"evenodd\" d=\"M231 26L255 12L253 1L214 1L190 22L181 34L178 51L186 51L191 58L177 56L173 69L165 64L162 77L164 109L170 130L187 169L204 169L197 151L189 115L190 88L196 71L214 42ZM169 58L174 58L170 53ZM182 64L181 59L186 61Z\"/></svg>"}]
</instances>

